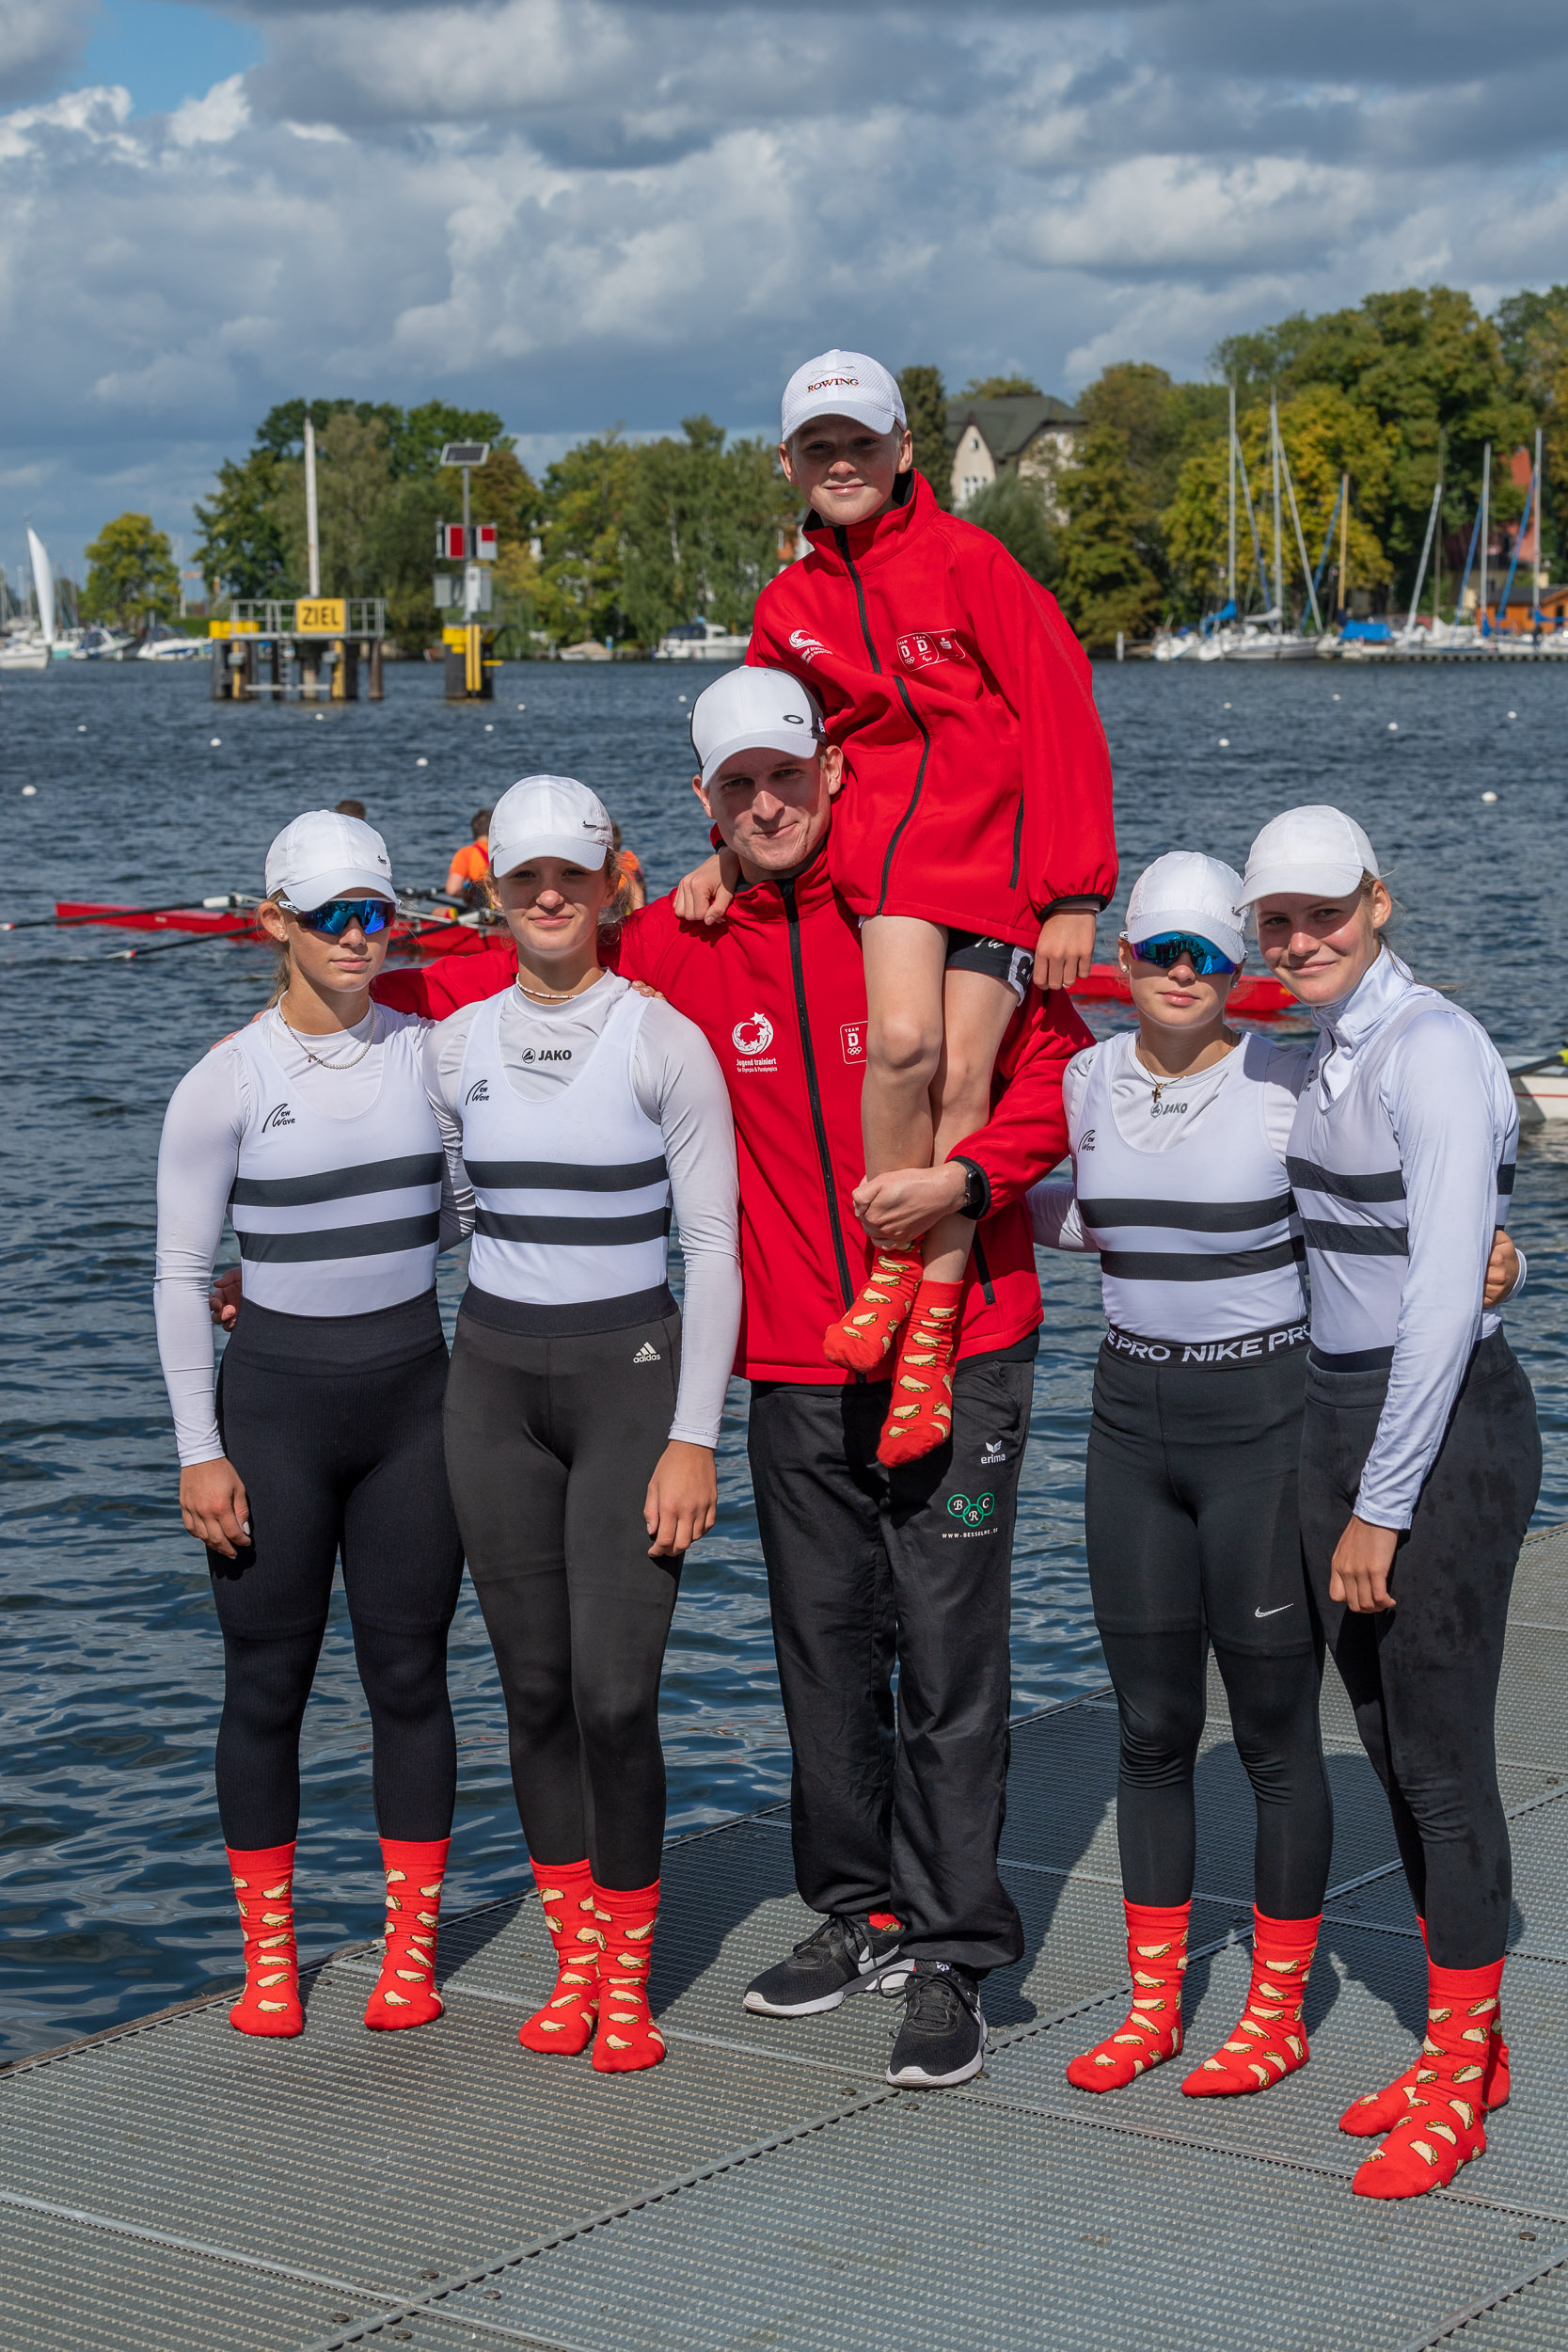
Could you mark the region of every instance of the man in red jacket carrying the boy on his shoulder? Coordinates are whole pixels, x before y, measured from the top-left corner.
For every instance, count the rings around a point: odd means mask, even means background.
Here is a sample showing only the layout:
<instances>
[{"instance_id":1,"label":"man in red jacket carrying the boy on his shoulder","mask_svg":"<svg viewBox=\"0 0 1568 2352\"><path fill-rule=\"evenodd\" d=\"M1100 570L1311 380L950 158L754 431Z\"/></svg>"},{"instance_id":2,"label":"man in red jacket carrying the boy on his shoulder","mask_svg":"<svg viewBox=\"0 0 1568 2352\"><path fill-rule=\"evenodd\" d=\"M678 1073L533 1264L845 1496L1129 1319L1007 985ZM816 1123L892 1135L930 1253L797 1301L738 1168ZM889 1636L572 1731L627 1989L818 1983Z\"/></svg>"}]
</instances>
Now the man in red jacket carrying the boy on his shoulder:
<instances>
[{"instance_id":1,"label":"man in red jacket carrying the boy on his shoulder","mask_svg":"<svg viewBox=\"0 0 1568 2352\"><path fill-rule=\"evenodd\" d=\"M966 2082L985 2056L978 1980L1023 1952L997 1875L1013 1517L1039 1334L1020 1202L1067 1148L1060 1080L1088 1033L1065 997L1027 990L992 1120L917 1178L931 1216L966 1209L978 1230L952 1444L889 1472L877 1463L889 1381L846 1376L820 1352L825 1317L872 1258L851 1209L865 981L858 924L825 861L839 755L811 741L813 706L795 680L778 675L776 699L776 724L748 729L771 741L731 748L705 762L708 786L698 779L741 856L745 887L726 922L682 924L661 898L625 922L616 953L628 978L703 1028L736 1112L736 1371L752 1383L752 1486L795 1750L795 1872L827 1915L745 2004L806 2016L910 1973L889 2079ZM491 948L383 976L376 995L440 1018L510 978L510 950Z\"/></svg>"}]
</instances>

